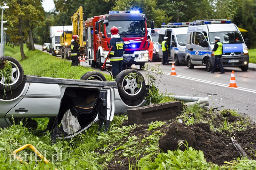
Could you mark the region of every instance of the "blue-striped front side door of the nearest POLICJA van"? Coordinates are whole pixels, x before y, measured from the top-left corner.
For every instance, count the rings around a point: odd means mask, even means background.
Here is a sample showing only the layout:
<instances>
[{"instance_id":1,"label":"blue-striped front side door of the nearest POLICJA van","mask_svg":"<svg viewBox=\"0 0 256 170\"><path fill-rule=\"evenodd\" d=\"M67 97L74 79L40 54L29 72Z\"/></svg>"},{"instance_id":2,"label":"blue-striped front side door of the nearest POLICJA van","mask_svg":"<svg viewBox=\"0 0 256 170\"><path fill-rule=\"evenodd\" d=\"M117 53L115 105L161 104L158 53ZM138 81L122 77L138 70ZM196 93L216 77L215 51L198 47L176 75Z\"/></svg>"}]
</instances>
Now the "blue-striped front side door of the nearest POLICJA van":
<instances>
[{"instance_id":1,"label":"blue-striped front side door of the nearest POLICJA van","mask_svg":"<svg viewBox=\"0 0 256 170\"><path fill-rule=\"evenodd\" d=\"M202 32L192 33L192 44L190 50L193 64L201 65L204 56L208 53L208 47L202 46L202 41L205 39L206 38Z\"/></svg>"}]
</instances>

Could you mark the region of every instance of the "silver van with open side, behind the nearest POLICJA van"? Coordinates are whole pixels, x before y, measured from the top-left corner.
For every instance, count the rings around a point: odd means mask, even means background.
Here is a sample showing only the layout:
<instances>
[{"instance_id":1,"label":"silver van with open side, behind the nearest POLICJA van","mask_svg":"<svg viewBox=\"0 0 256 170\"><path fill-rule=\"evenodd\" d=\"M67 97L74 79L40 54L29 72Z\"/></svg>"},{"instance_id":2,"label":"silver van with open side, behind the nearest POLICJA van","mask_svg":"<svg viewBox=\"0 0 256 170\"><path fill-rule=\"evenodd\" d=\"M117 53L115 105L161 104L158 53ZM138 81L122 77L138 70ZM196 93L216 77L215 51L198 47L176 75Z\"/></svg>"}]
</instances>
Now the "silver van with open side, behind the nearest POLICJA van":
<instances>
[{"instance_id":1,"label":"silver van with open side, behind the nearest POLICJA van","mask_svg":"<svg viewBox=\"0 0 256 170\"><path fill-rule=\"evenodd\" d=\"M186 63L186 37L188 32L188 26L192 23L182 22L182 23L169 23L167 25L162 25L159 31L159 57L163 57L161 42L164 37L168 37L168 58L175 61L175 65L179 66L180 63Z\"/></svg>"}]
</instances>

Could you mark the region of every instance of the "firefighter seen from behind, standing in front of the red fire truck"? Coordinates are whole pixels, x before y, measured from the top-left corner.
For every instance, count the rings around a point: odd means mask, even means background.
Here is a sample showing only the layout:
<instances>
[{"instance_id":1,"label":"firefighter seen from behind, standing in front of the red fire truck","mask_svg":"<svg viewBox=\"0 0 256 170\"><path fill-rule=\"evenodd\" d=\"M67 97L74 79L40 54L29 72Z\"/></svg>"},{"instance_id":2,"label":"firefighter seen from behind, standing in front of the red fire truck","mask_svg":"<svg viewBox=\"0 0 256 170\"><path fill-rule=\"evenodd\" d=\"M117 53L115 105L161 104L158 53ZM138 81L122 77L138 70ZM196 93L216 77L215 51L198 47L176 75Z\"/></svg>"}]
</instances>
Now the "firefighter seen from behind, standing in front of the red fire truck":
<instances>
[{"instance_id":1,"label":"firefighter seen from behind, standing in front of the red fire truck","mask_svg":"<svg viewBox=\"0 0 256 170\"><path fill-rule=\"evenodd\" d=\"M124 39L118 34L118 28L113 26L110 29L111 39L110 46L112 50L109 53L108 59L112 65L112 75L113 78L116 78L117 74L123 70L123 56L125 51Z\"/></svg>"}]
</instances>

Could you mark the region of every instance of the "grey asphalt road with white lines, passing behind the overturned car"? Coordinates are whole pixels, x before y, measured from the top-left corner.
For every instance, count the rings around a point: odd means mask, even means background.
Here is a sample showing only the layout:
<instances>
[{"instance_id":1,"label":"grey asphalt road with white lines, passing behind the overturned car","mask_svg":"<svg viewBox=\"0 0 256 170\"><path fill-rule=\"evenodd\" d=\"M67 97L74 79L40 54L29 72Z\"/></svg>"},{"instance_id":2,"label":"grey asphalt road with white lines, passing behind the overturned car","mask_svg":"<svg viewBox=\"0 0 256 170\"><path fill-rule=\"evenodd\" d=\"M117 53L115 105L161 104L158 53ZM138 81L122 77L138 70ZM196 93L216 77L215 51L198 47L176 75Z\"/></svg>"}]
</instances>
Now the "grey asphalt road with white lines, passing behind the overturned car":
<instances>
[{"instance_id":1,"label":"grey asphalt road with white lines, passing behind the overturned car","mask_svg":"<svg viewBox=\"0 0 256 170\"><path fill-rule=\"evenodd\" d=\"M37 48L38 49L38 48ZM42 46L40 49L42 50ZM59 57L59 56L57 56ZM155 66L159 62L148 62L150 66ZM170 61L170 63L174 63ZM80 65L90 67L88 63L80 62ZM111 65L106 65L111 71ZM145 71L140 70L139 66L132 67L145 75ZM95 70L99 68L95 68ZM125 69L125 67L124 67ZM219 110L232 109L240 114L250 117L256 122L256 72L248 70L242 72L240 68L225 67L225 74L219 74L216 70L211 74L205 70L204 66L195 66L189 69L185 64L175 66L177 75L170 75L171 65L160 65L161 71L164 72L162 80L159 83L159 91L162 93L172 93L178 96L209 97L209 107ZM229 88L231 72L234 70L237 88Z\"/></svg>"}]
</instances>

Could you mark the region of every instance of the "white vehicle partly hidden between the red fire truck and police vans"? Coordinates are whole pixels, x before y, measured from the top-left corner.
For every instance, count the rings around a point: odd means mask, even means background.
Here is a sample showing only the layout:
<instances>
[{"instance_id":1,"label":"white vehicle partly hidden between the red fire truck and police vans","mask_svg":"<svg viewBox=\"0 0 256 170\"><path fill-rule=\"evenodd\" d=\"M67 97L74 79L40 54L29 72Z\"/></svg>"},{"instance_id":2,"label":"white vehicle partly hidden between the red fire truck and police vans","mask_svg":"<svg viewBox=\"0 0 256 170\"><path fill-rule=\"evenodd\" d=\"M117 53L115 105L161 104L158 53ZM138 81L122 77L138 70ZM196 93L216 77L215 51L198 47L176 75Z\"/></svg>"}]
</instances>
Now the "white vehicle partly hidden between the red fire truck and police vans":
<instances>
[{"instance_id":1,"label":"white vehicle partly hidden between the red fire truck and police vans","mask_svg":"<svg viewBox=\"0 0 256 170\"><path fill-rule=\"evenodd\" d=\"M148 38L151 39L151 41L154 43L154 49L153 49L153 57L152 57L152 61L156 61L156 60L160 60L159 56L158 56L158 51L159 51L159 43L158 43L158 32L160 30L160 28L154 28L155 33L151 33L151 28L147 28L148 31Z\"/></svg>"}]
</instances>

